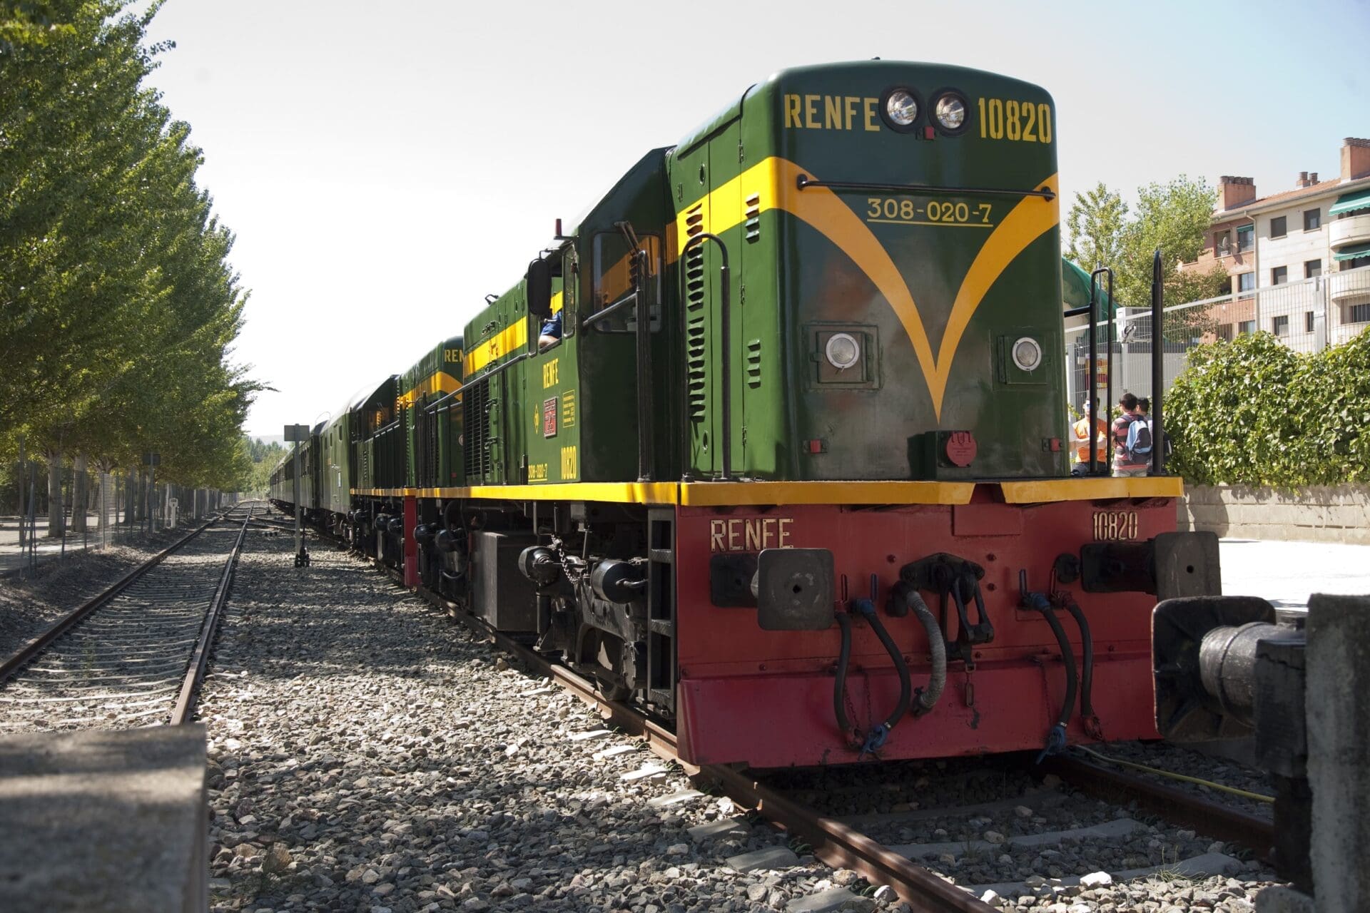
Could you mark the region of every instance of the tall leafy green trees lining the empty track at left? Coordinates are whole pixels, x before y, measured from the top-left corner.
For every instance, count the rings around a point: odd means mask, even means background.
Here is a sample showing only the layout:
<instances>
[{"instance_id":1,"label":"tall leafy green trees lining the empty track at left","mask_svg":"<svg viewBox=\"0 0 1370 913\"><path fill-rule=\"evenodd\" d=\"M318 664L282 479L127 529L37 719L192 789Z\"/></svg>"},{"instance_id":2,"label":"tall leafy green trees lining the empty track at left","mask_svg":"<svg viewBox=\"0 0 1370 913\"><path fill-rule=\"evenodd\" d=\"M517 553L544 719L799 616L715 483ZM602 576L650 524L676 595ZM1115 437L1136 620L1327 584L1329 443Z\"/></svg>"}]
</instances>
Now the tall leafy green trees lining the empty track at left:
<instances>
[{"instance_id":1,"label":"tall leafy green trees lining the empty track at left","mask_svg":"<svg viewBox=\"0 0 1370 913\"><path fill-rule=\"evenodd\" d=\"M247 293L190 127L147 85L160 3L130 7L0 0L0 461L22 438L56 483L63 454L84 479L158 452L160 479L237 490Z\"/></svg>"}]
</instances>

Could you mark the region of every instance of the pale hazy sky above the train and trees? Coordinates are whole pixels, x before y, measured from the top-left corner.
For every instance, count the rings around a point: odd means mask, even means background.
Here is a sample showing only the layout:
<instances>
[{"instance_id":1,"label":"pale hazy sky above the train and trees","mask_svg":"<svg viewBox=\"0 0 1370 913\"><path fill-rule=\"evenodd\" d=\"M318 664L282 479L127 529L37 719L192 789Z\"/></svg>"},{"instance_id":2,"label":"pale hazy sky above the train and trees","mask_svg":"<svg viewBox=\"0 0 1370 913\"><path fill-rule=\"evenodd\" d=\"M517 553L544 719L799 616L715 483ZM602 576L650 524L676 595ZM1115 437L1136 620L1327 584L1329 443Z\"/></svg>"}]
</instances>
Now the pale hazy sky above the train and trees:
<instances>
[{"instance_id":1,"label":"pale hazy sky above the train and trees","mask_svg":"<svg viewBox=\"0 0 1370 913\"><path fill-rule=\"evenodd\" d=\"M252 297L248 431L312 423L460 333L643 152L770 73L867 59L1055 96L1063 215L1103 181L1338 171L1370 4L169 0L152 83L204 149Z\"/></svg>"}]
</instances>

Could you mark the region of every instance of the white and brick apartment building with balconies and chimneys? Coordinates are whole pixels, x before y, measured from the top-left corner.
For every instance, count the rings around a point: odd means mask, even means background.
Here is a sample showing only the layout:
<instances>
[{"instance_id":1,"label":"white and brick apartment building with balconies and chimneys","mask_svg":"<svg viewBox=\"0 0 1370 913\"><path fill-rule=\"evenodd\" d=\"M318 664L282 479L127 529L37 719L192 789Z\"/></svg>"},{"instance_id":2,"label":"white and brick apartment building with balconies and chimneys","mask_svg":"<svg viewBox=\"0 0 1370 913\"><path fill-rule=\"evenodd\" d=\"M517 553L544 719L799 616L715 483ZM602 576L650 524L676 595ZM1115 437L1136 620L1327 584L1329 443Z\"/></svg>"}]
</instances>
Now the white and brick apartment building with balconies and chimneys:
<instances>
[{"instance_id":1,"label":"white and brick apartment building with balconies and chimneys","mask_svg":"<svg viewBox=\"0 0 1370 913\"><path fill-rule=\"evenodd\" d=\"M1206 248L1182 267L1232 277L1208 308L1218 337L1259 329L1312 349L1370 326L1370 140L1343 141L1336 178L1300 171L1292 190L1259 197L1251 178L1223 175L1218 192Z\"/></svg>"}]
</instances>

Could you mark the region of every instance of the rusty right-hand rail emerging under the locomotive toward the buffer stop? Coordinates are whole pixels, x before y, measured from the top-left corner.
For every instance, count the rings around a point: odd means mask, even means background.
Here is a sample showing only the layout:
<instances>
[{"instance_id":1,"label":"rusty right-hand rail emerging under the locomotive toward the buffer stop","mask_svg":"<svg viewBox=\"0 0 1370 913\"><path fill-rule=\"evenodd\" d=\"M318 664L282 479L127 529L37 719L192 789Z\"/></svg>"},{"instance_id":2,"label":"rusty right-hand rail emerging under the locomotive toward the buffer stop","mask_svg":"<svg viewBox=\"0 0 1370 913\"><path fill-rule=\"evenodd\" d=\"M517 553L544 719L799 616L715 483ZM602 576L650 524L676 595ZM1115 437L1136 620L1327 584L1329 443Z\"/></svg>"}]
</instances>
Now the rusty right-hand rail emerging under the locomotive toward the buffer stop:
<instances>
[{"instance_id":1,"label":"rusty right-hand rail emerging under the locomotive toward the buffer stop","mask_svg":"<svg viewBox=\"0 0 1370 913\"><path fill-rule=\"evenodd\" d=\"M1270 856L1274 843L1274 823L1237 812L1225 805L1201 799L1192 793L1164 783L1156 783L1136 773L1112 771L1074 757L1051 757L1038 765L1045 773L1055 773L1085 793L1104 798L1136 801L1147 810L1167 821L1188 824L1200 834L1240 843L1262 858Z\"/></svg>"}]
</instances>

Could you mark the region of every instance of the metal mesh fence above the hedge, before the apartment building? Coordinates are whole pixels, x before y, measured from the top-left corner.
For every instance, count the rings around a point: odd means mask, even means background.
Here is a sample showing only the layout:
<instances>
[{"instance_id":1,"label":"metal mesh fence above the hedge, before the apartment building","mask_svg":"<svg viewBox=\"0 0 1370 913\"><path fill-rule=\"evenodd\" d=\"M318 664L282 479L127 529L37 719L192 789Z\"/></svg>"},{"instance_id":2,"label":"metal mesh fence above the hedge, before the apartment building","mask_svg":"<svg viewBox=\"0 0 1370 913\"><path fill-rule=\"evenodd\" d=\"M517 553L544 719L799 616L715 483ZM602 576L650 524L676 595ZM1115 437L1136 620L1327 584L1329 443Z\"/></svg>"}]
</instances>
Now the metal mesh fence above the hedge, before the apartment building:
<instances>
[{"instance_id":1,"label":"metal mesh fence above the hedge, before the apartment building","mask_svg":"<svg viewBox=\"0 0 1370 913\"><path fill-rule=\"evenodd\" d=\"M1151 312L1122 308L1112 326L1112 398L1151 396ZM1163 390L1185 370L1189 350L1258 330L1271 333L1296 352L1319 352L1370 327L1370 267L1332 272L1218 298L1166 308L1160 346ZM1100 398L1108 387L1108 324L1095 327L1093 365ZM1089 326L1066 327L1066 389L1070 404L1085 408L1089 389ZM1112 405L1112 404L1108 404Z\"/></svg>"}]
</instances>

